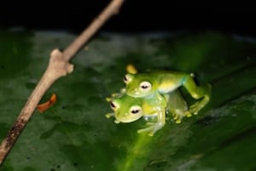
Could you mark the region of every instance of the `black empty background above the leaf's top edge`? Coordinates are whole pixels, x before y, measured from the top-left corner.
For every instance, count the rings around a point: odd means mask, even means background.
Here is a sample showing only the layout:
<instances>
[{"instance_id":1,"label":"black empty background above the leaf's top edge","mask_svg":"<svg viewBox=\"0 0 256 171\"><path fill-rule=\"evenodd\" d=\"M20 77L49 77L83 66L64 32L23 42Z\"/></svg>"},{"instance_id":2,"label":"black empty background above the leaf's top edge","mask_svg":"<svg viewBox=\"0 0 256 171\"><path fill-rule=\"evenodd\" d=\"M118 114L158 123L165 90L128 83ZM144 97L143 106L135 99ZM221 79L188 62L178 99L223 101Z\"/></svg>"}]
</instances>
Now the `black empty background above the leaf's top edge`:
<instances>
[{"instance_id":1,"label":"black empty background above the leaf's top edge","mask_svg":"<svg viewBox=\"0 0 256 171\"><path fill-rule=\"evenodd\" d=\"M80 32L109 3L107 0L65 3L33 1L1 5L0 26L37 30ZM126 0L119 15L103 26L104 31L144 32L214 30L256 36L253 3L216 1Z\"/></svg>"}]
</instances>

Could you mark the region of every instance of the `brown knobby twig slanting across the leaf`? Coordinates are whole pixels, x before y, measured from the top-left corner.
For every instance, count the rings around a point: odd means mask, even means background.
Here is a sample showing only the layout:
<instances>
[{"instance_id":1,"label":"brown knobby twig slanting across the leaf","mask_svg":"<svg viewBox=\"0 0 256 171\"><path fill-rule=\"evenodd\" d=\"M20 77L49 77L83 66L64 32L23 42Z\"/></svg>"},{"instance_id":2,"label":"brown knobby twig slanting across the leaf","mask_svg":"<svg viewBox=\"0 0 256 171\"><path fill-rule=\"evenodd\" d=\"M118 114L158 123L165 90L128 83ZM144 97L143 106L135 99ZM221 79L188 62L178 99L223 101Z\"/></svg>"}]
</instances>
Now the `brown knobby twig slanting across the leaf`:
<instances>
[{"instance_id":1,"label":"brown knobby twig slanting across the leaf","mask_svg":"<svg viewBox=\"0 0 256 171\"><path fill-rule=\"evenodd\" d=\"M123 3L124 0L112 0L112 2L108 4L108 7L102 11L102 14L100 14L63 53L58 49L52 51L49 57L49 65L43 77L33 90L26 105L20 111L15 125L9 130L9 133L0 145L0 166L15 144L23 128L25 128L26 123L29 121L30 117L32 117L33 111L35 111L47 89L55 83L58 78L66 76L73 71L73 65L69 63L69 60L71 60L73 55L88 42L90 37L92 37L113 14L117 14Z\"/></svg>"}]
</instances>

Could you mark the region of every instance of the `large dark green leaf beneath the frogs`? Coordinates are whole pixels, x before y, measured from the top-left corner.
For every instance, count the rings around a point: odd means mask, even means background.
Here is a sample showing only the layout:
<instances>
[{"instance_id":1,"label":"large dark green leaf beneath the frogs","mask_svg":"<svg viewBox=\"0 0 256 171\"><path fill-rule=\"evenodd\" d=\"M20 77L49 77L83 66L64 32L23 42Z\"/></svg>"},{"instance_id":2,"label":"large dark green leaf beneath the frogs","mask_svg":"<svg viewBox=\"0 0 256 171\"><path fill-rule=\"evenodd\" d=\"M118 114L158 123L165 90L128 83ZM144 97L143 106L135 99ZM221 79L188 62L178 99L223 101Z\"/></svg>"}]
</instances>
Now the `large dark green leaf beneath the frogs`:
<instances>
[{"instance_id":1,"label":"large dark green leaf beneath the frogs","mask_svg":"<svg viewBox=\"0 0 256 171\"><path fill-rule=\"evenodd\" d=\"M38 83L65 32L0 31L0 140ZM1 171L234 170L256 169L255 40L217 32L101 34L73 58L75 70L59 79L57 102L32 119ZM212 100L197 116L166 126L153 137L137 134L144 121L113 123L105 98L124 87L129 63L194 72L212 83ZM189 98L189 96L187 97Z\"/></svg>"}]
</instances>

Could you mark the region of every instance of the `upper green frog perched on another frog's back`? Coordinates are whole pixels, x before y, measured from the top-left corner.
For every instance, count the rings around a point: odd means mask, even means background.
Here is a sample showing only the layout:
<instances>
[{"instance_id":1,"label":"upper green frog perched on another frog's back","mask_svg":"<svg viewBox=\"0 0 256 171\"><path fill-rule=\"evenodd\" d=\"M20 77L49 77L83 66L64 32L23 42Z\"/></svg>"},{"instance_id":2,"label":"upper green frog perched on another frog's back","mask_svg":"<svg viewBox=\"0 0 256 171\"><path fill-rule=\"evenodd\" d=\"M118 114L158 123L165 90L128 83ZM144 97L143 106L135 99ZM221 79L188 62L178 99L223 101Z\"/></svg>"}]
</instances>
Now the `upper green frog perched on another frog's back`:
<instances>
[{"instance_id":1,"label":"upper green frog perched on another frog's back","mask_svg":"<svg viewBox=\"0 0 256 171\"><path fill-rule=\"evenodd\" d=\"M210 100L212 86L209 83L197 86L193 77L193 74L177 71L128 71L124 77L125 90L131 97L154 99L155 94L165 96L183 86L195 100L198 100L189 106L189 112L196 115Z\"/></svg>"}]
</instances>

